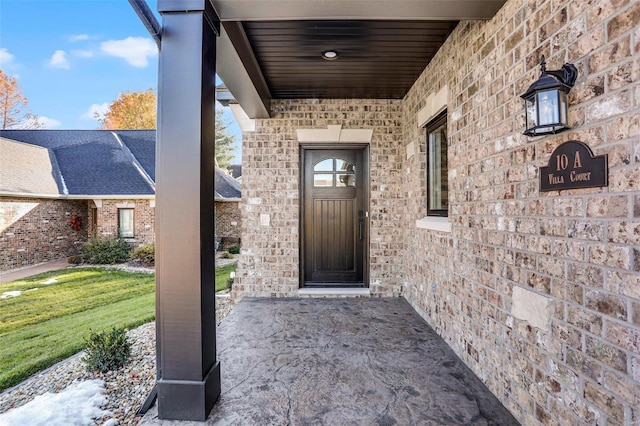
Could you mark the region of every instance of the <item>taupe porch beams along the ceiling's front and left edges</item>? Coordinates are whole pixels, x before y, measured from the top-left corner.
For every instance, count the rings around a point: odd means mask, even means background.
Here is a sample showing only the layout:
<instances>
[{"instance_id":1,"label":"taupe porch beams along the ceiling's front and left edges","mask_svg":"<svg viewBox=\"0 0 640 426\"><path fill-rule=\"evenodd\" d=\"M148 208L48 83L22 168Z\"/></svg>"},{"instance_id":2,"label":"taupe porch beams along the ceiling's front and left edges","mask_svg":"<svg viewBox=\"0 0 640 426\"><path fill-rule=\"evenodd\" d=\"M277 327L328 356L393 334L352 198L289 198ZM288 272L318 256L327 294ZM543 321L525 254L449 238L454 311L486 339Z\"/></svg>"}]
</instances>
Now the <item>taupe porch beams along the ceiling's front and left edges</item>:
<instances>
[{"instance_id":1,"label":"taupe porch beams along the ceiling's front and left edges","mask_svg":"<svg viewBox=\"0 0 640 426\"><path fill-rule=\"evenodd\" d=\"M491 19L506 0L212 0L220 17L216 72L249 119L269 118L272 95L242 21Z\"/></svg>"}]
</instances>

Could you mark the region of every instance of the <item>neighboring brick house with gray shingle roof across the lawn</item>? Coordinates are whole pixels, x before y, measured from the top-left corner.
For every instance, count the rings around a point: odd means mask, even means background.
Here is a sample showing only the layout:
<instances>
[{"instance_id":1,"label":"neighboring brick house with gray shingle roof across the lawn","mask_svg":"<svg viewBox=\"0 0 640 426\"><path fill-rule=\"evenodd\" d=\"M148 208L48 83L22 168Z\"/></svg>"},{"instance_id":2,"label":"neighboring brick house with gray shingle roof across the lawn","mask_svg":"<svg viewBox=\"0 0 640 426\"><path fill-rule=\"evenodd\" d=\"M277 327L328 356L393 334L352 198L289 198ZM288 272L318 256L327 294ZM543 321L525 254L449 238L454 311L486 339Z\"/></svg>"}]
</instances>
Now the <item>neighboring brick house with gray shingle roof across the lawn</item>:
<instances>
[{"instance_id":1,"label":"neighboring brick house with gray shingle roof across the lawn","mask_svg":"<svg viewBox=\"0 0 640 426\"><path fill-rule=\"evenodd\" d=\"M0 271L76 255L91 237L154 243L155 139L155 130L0 131ZM239 241L240 189L229 179L218 179L219 235Z\"/></svg>"}]
</instances>

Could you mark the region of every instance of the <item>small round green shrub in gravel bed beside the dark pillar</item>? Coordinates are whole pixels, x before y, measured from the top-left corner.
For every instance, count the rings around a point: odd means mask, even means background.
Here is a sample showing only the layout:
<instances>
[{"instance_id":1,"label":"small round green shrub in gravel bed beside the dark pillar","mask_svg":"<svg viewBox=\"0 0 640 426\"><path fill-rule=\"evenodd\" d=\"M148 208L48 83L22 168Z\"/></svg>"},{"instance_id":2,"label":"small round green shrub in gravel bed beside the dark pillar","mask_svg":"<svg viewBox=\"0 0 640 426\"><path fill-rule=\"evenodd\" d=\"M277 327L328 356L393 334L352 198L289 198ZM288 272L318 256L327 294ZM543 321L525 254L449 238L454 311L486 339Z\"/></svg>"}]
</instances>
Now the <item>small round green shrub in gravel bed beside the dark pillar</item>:
<instances>
[{"instance_id":1,"label":"small round green shrub in gravel bed beside the dark pillar","mask_svg":"<svg viewBox=\"0 0 640 426\"><path fill-rule=\"evenodd\" d=\"M124 329L113 327L111 331L91 334L85 339L87 348L82 361L89 371L103 373L115 370L127 363L131 355L131 343Z\"/></svg>"}]
</instances>

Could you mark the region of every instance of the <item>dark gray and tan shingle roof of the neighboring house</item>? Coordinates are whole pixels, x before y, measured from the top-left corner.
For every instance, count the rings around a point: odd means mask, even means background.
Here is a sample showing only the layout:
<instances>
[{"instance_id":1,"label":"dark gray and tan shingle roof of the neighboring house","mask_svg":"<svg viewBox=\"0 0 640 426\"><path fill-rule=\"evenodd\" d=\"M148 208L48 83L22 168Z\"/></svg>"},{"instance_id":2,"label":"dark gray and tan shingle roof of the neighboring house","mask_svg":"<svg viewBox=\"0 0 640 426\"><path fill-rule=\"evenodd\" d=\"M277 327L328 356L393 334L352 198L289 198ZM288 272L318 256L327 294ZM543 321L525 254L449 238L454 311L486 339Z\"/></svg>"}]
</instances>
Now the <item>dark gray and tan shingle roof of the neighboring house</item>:
<instances>
[{"instance_id":1,"label":"dark gray and tan shingle roof of the neighboring house","mask_svg":"<svg viewBox=\"0 0 640 426\"><path fill-rule=\"evenodd\" d=\"M153 195L155 147L155 130L0 130L0 192ZM241 197L218 168L215 197Z\"/></svg>"}]
</instances>

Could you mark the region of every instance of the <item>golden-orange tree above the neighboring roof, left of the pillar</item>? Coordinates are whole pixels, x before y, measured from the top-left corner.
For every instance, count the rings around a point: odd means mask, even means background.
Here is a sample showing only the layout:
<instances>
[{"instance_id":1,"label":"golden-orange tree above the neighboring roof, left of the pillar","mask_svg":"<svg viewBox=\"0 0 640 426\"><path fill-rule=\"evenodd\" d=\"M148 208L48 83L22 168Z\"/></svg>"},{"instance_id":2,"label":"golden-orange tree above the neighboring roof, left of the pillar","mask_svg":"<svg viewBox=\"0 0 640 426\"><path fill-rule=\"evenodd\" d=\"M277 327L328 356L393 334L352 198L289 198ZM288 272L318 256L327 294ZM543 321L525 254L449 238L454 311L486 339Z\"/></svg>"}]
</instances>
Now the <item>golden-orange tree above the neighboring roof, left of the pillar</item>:
<instances>
[{"instance_id":1,"label":"golden-orange tree above the neighboring roof, left of the pillar","mask_svg":"<svg viewBox=\"0 0 640 426\"><path fill-rule=\"evenodd\" d=\"M96 118L104 130L155 129L156 94L153 89L120 93L106 114Z\"/></svg>"}]
</instances>

